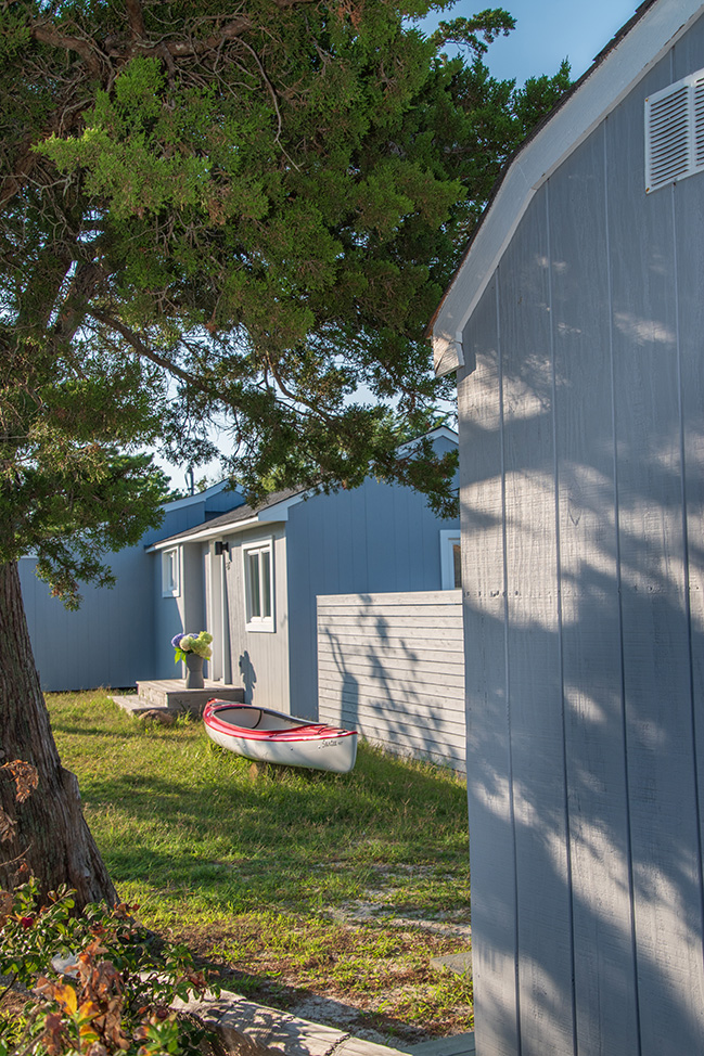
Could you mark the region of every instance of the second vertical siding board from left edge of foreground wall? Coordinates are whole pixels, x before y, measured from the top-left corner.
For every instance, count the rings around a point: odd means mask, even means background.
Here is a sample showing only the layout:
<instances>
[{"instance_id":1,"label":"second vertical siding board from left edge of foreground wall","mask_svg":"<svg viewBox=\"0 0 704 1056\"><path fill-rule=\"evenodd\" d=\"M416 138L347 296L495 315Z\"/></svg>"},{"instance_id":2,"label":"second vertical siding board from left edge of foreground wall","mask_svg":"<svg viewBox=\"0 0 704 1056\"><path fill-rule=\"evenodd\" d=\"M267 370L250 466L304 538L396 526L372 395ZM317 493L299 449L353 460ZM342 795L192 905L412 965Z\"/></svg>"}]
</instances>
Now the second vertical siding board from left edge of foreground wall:
<instances>
[{"instance_id":1,"label":"second vertical siding board from left edge of foreground wall","mask_svg":"<svg viewBox=\"0 0 704 1056\"><path fill-rule=\"evenodd\" d=\"M499 271L519 987L533 1009L523 1056L564 1051L574 1028L546 209L543 188Z\"/></svg>"}]
</instances>

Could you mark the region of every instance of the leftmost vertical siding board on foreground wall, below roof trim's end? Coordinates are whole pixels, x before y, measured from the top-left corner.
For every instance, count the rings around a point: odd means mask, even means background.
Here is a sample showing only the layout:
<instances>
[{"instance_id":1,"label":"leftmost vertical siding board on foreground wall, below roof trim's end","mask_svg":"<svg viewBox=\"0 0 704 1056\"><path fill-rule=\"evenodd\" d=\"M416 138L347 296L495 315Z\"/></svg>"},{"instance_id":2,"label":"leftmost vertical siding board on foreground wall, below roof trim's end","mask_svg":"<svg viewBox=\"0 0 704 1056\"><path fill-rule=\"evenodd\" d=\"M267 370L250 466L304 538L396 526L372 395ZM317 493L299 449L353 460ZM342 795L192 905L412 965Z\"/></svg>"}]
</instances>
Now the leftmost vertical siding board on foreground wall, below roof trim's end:
<instances>
[{"instance_id":1,"label":"leftmost vertical siding board on foreground wall, below roof trim's end","mask_svg":"<svg viewBox=\"0 0 704 1056\"><path fill-rule=\"evenodd\" d=\"M458 400L474 1029L478 1053L514 1056L520 1049L516 863L496 281L479 301L463 344L471 363L459 377ZM474 942L474 935L482 941Z\"/></svg>"}]
</instances>

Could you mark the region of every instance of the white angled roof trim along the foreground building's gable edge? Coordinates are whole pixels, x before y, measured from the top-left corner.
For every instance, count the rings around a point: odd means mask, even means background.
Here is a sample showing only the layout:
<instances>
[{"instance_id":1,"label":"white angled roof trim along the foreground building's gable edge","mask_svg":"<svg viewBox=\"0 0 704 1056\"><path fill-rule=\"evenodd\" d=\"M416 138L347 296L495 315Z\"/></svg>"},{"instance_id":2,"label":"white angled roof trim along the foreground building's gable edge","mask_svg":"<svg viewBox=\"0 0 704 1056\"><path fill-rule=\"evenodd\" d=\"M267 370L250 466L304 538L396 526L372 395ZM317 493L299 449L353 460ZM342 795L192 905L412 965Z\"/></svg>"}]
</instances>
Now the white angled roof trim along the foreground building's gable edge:
<instances>
[{"instance_id":1,"label":"white angled roof trim along the foreground building's gable edge","mask_svg":"<svg viewBox=\"0 0 704 1056\"><path fill-rule=\"evenodd\" d=\"M462 333L536 191L702 14L702 0L658 0L510 165L433 322L438 375L457 370ZM455 355L450 355L450 346Z\"/></svg>"}]
</instances>

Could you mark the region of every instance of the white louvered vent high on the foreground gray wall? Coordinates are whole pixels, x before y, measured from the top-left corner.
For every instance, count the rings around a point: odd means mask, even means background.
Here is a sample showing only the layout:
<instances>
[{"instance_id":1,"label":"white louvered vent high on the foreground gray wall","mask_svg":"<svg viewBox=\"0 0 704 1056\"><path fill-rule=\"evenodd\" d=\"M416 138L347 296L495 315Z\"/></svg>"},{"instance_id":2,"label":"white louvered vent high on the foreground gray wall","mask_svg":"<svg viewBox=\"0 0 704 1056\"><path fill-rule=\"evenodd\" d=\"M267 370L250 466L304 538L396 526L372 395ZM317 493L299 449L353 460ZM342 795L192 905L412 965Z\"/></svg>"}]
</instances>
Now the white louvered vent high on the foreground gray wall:
<instances>
[{"instance_id":1,"label":"white louvered vent high on the foreground gray wall","mask_svg":"<svg viewBox=\"0 0 704 1056\"><path fill-rule=\"evenodd\" d=\"M704 69L645 100L645 192L704 171Z\"/></svg>"}]
</instances>

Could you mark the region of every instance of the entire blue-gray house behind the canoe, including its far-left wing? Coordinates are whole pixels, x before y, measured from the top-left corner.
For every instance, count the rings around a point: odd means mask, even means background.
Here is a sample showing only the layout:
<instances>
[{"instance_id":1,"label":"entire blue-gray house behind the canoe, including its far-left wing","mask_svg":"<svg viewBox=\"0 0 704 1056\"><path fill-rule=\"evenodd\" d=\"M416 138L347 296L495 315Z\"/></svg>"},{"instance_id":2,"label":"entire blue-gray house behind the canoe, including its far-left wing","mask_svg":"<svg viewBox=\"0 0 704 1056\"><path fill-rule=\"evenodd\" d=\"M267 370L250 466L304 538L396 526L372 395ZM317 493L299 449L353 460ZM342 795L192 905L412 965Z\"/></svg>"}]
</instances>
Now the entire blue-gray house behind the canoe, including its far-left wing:
<instances>
[{"instance_id":1,"label":"entire blue-gray house behind the canoe, including its far-left wing","mask_svg":"<svg viewBox=\"0 0 704 1056\"><path fill-rule=\"evenodd\" d=\"M439 453L458 437L431 434ZM111 556L112 590L67 613L20 565L42 688L121 687L180 677L170 640L208 630L206 675L303 717L318 709L316 596L459 585L459 519L423 495L369 478L353 491L291 490L253 510L217 485L168 503L162 527Z\"/></svg>"}]
</instances>

